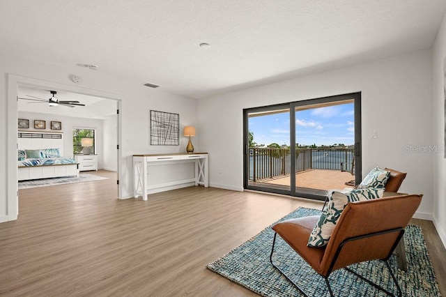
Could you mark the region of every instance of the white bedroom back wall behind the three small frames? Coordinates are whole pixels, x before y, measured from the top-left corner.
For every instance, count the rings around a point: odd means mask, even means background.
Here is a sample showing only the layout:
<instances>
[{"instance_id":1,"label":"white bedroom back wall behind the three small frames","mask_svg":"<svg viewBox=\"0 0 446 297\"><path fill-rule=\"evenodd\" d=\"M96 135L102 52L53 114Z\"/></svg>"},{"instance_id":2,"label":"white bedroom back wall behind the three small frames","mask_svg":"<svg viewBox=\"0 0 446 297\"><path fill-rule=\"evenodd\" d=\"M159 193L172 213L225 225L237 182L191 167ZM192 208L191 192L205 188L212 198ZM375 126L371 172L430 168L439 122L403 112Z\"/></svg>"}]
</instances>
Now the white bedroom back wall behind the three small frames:
<instances>
[{"instance_id":1,"label":"white bedroom back wall behind the three small frames","mask_svg":"<svg viewBox=\"0 0 446 297\"><path fill-rule=\"evenodd\" d=\"M63 157L73 157L72 153L72 128L93 128L96 130L96 153L98 153L98 168L103 167L103 153L104 150L104 140L102 138L103 128L102 120L97 119L83 119L75 118L72 116L60 116L54 114L41 114L38 112L19 112L18 116L20 119L29 119L30 129L22 130L33 130L32 125L34 120L44 120L47 122L47 128L41 130L42 132L63 132ZM62 130L51 130L50 121L60 121L62 123ZM40 130L39 130L40 131ZM116 132L115 132L116 137ZM116 146L115 146L116 147ZM116 154L116 152L115 152Z\"/></svg>"}]
</instances>

